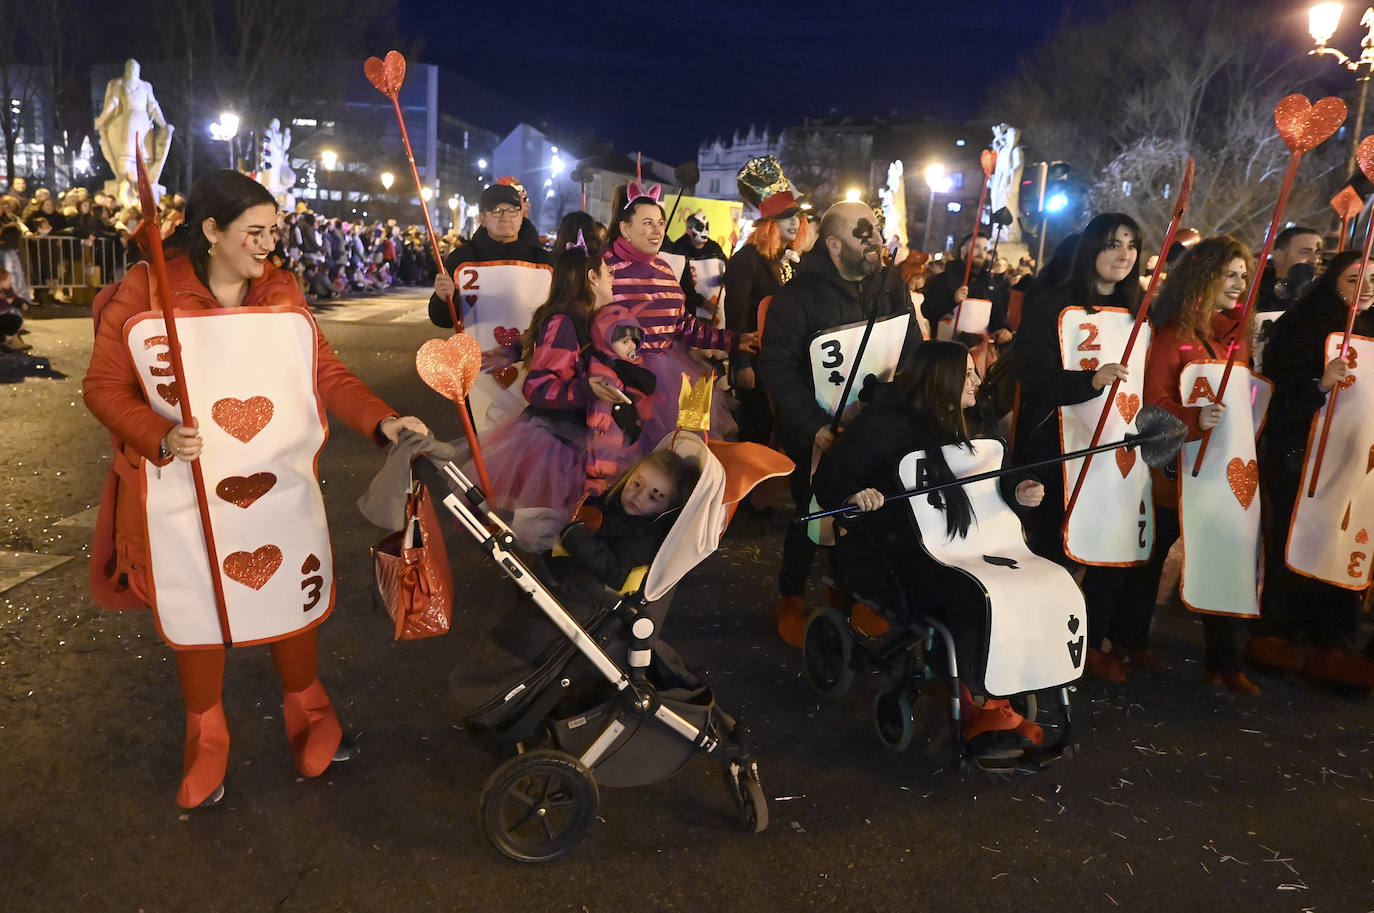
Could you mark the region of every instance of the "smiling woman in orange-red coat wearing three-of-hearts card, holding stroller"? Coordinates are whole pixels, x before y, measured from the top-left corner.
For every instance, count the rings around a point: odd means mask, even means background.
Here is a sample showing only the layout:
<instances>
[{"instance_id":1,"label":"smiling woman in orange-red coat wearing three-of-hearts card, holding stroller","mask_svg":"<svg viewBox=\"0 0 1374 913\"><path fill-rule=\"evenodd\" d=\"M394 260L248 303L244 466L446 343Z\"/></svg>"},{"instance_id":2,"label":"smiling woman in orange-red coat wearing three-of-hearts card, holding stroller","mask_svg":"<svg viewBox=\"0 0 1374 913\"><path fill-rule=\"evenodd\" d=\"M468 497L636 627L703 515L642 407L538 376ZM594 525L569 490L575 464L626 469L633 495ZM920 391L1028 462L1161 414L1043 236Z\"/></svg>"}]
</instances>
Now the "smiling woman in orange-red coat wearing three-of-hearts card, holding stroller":
<instances>
[{"instance_id":1,"label":"smiling woman in orange-red coat wearing three-of-hearts card, holding stroller","mask_svg":"<svg viewBox=\"0 0 1374 913\"><path fill-rule=\"evenodd\" d=\"M404 429L427 433L338 360L295 279L267 263L276 220L272 194L245 175L201 177L168 245L168 287L154 293L146 263L129 271L95 314L82 384L115 446L92 587L107 608L153 606L174 650L185 703L184 808L224 796L225 644L271 645L301 774L317 777L356 754L316 667L317 624L334 601L315 472L324 410L378 444ZM185 381L173 377L161 301L177 311ZM187 393L198 417L190 428L179 410ZM192 462L207 490L214 564L201 547Z\"/></svg>"}]
</instances>

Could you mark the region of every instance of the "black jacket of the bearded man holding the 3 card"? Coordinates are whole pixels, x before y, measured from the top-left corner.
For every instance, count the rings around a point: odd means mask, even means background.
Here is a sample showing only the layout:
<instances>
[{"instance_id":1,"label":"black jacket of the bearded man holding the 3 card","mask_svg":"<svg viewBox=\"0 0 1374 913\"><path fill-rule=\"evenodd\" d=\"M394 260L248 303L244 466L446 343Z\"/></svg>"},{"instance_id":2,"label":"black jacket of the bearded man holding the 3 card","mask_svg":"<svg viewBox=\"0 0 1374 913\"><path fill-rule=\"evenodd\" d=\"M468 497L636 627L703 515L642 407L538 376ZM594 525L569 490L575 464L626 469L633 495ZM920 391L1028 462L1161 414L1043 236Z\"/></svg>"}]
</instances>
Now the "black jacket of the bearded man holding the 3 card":
<instances>
[{"instance_id":1,"label":"black jacket of the bearded man holding the 3 card","mask_svg":"<svg viewBox=\"0 0 1374 913\"><path fill-rule=\"evenodd\" d=\"M812 337L872 315L910 312L911 298L905 286L890 282L883 272L868 276L863 283L849 282L819 245L801 258L791 280L768 307L764 338L754 358L760 382L772 399L775 433L783 450L809 458L812 439L833 418L820 408L813 395ZM903 358L921 341L921 324L912 318Z\"/></svg>"}]
</instances>

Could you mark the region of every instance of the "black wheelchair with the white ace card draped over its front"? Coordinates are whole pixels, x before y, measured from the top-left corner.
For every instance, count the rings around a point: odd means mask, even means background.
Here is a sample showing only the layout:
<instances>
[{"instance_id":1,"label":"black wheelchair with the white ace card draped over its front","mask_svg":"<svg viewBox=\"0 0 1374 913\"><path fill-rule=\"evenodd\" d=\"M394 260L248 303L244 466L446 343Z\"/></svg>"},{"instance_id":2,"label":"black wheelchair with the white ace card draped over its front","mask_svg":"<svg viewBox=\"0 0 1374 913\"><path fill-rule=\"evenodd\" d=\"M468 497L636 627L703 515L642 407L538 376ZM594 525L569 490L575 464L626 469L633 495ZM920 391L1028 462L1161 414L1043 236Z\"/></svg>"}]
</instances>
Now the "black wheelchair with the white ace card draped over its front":
<instances>
[{"instance_id":1,"label":"black wheelchair with the white ace card draped over its front","mask_svg":"<svg viewBox=\"0 0 1374 913\"><path fill-rule=\"evenodd\" d=\"M977 440L971 452L958 447L944 452L951 470L966 477L1000 466L1003 448L996 440ZM925 483L922 456L916 451L903 458L904 488ZM965 491L974 516L967 538L945 535L938 495L890 506L904 510L914 532L922 534L921 547L910 556L919 568L921 593L903 584L914 573L899 572L889 549L866 532L861 514L837 521L845 535L831 551L826 583L840 594L841 605L863 604L889 628L868 637L842 609L812 612L802 641L805 675L830 698L846 693L857 671L878 671L883 685L872 703L872 723L892 751L911 744L914 705L923 689L933 689L949 708L951 767L971 760L992 771L1040 769L1072 756L1076 748L1068 686L1081 674L1087 642L1083 594L1068 571L1030 553L996 480L969 483ZM1061 716L1052 727L1057 734L1051 738L1047 729L1044 744L1015 758L973 758L960 737L960 682L973 693L1013 698L1030 720L1037 714L1036 692L1054 689Z\"/></svg>"}]
</instances>

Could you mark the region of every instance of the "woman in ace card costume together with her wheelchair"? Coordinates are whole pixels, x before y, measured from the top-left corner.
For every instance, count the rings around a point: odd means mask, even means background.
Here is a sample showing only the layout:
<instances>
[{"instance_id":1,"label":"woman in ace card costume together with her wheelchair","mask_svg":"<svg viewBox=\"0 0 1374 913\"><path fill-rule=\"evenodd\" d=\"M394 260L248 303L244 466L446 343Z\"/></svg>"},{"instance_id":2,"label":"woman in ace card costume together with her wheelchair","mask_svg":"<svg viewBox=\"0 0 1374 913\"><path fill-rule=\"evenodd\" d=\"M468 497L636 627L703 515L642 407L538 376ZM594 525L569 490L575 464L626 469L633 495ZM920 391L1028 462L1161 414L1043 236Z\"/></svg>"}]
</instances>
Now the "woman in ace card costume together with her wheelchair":
<instances>
[{"instance_id":1,"label":"woman in ace card costume together with her wheelchair","mask_svg":"<svg viewBox=\"0 0 1374 913\"><path fill-rule=\"evenodd\" d=\"M1037 506L1043 487L1004 477L1000 491L989 480L918 496L910 506L883 506L881 494L894 483L948 483L1000 465L1000 441L969 433L966 410L976 406L977 389L965 346L926 342L820 461L812 481L818 502L853 505L857 514L840 522L845 535L833 553L833 586L846 605L864 605L892 627L864 624L860 632L878 637L856 638L860 626L844 613L813 613L804 639L807 672L822 693L833 693L848 688L861 659L888 670L894 681L878 696L874 722L879 737L900 749L911 738L911 703L933 678L927 659L943 648L949 690L958 694L951 701L956 763L973 758L984 767L1007 767L1025 755L1041 766L1068 745L1063 685L1077 678L1083 650L1074 639L1065 657L1055 653L1040 663L1035 654L1044 648L1040 641L1062 637L1057 624L1076 637L1083 616L1072 578L1029 554L1020 520L1007 509ZM1028 637L1032 619L1050 632ZM1052 686L1061 689L1065 726L1057 744L1041 747L1033 701L1024 715L1007 698Z\"/></svg>"}]
</instances>

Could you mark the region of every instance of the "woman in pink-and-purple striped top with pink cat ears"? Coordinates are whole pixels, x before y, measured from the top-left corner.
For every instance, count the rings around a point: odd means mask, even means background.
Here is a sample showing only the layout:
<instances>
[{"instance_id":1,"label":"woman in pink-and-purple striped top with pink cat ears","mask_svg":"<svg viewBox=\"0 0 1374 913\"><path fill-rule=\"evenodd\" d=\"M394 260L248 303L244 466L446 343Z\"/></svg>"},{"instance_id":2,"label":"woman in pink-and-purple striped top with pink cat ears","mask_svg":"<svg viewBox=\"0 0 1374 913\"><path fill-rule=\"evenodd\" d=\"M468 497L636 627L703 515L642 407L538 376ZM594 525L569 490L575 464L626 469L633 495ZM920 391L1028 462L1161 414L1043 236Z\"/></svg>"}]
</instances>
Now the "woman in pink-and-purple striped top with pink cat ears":
<instances>
[{"instance_id":1,"label":"woman in pink-and-purple striped top with pink cat ears","mask_svg":"<svg viewBox=\"0 0 1374 913\"><path fill-rule=\"evenodd\" d=\"M677 426L677 390L682 378L697 382L712 368L697 364L688 346L753 352L757 333L738 334L719 330L687 312L687 296L672 267L658 256L668 221L658 205L658 188L653 195L629 184L616 191L617 217L610 227L610 246L602 257L610 265L613 279L611 302L629 308L643 327L640 355L644 367L657 378L661 395L657 407L644 417L643 434L636 452L647 452L658 446L668 432ZM724 396L712 400L710 432L724 436L734 428Z\"/></svg>"}]
</instances>

